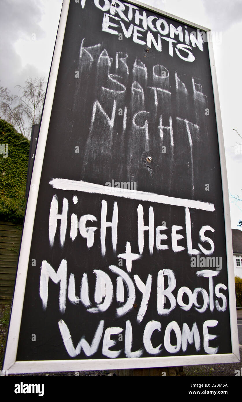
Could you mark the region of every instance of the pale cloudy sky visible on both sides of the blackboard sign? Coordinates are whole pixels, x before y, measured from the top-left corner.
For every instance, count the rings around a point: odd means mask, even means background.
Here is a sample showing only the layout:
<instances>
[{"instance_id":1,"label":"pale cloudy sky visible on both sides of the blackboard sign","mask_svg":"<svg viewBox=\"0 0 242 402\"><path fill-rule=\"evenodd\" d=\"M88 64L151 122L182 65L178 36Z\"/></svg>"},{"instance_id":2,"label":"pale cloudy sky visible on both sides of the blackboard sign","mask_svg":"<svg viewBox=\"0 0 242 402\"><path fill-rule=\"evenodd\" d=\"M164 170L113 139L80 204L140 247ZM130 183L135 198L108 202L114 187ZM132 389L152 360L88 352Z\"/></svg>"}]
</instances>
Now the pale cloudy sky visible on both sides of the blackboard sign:
<instances>
[{"instance_id":1,"label":"pale cloudy sky visible on both sides of the blackboard sign","mask_svg":"<svg viewBox=\"0 0 242 402\"><path fill-rule=\"evenodd\" d=\"M87 0L88 1L88 0ZM241 0L146 0L215 32L213 49L226 149L228 186L242 198ZM49 74L62 0L0 0L0 84L16 92L29 77ZM217 40L216 40L217 38ZM241 146L242 151L242 146ZM230 198L232 228L242 219L242 202Z\"/></svg>"}]
</instances>

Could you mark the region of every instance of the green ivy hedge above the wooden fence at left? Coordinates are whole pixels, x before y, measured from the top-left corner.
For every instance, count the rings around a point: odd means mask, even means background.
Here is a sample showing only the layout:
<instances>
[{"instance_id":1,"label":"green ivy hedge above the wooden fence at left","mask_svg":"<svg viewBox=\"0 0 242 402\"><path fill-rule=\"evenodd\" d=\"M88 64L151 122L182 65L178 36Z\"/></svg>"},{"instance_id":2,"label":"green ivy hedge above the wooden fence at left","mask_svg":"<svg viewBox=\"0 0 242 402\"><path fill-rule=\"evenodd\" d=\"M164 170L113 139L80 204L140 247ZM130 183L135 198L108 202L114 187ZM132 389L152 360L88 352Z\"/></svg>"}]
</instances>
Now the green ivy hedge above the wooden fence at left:
<instances>
[{"instance_id":1,"label":"green ivy hedge above the wooden fence at left","mask_svg":"<svg viewBox=\"0 0 242 402\"><path fill-rule=\"evenodd\" d=\"M0 119L0 144L5 145L5 152L8 144L8 156L4 158L0 153L0 220L22 224L30 142Z\"/></svg>"}]
</instances>

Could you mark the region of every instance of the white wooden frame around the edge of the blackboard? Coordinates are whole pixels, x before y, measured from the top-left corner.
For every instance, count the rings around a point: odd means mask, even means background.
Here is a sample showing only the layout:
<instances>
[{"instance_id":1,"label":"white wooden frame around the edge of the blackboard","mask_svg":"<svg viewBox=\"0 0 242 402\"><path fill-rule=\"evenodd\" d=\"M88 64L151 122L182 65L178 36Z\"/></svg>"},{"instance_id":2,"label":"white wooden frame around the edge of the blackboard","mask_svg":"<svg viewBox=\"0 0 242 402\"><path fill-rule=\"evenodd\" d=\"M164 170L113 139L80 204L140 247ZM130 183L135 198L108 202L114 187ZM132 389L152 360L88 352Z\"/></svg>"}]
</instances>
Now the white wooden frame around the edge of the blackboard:
<instances>
[{"instance_id":1,"label":"white wooden frame around the edge of the blackboard","mask_svg":"<svg viewBox=\"0 0 242 402\"><path fill-rule=\"evenodd\" d=\"M185 23L201 29L202 31L211 32L209 29L200 25L191 23L182 18L178 18L167 12L162 12L157 8L148 6L139 1L129 1L131 4L141 6L147 10L154 11L158 14L172 18L178 22ZM51 116L51 109L55 93L55 84L57 80L57 73L59 69L59 62L62 53L62 45L64 40L64 33L66 28L66 21L68 16L70 0L64 0L62 5L62 12L57 32L57 40L55 43L55 50L53 55L53 62L51 65L51 72L43 109L43 117L39 132L39 139L37 151L35 155L35 162L33 166L33 174L31 178L31 186L29 199L27 203L27 210L25 215L25 224L23 229L23 238L21 243L21 250L18 261L18 271L16 276L16 285L14 290L14 299L12 304L12 312L10 318L10 326L8 332L8 342L6 345L6 353L4 358L4 370L8 373L37 373L45 371L81 371L81 370L97 370L97 369L129 369L129 368L146 368L146 367L168 367L179 365L193 365L193 364L211 364L211 363L230 363L240 361L239 346L238 346L238 330L237 330L237 317L236 317L236 301L235 301L235 287L234 287L234 265L233 265L233 251L232 251L232 233L230 224L230 207L228 197L228 182L226 172L224 140L222 133L221 113L219 106L219 96L217 88L217 79L215 72L213 46L212 42L208 41L209 59L211 66L213 93L215 101L215 112L217 119L217 131L219 142L219 154L221 163L221 176L223 187L223 201L224 201L224 214L225 214L225 229L226 229L226 244L227 244L227 262L228 262L228 285L229 285L229 305L230 305L230 326L231 326L231 340L232 340L232 353L216 354L216 355L191 355L191 356L172 356L172 357L139 357L135 359L85 359L85 360L48 360L48 361L16 361L16 353L18 347L18 337L20 332L21 317L23 311L23 300L25 294L25 284L27 278L27 269L29 263L29 254L32 234L33 223L35 217L35 210L37 205L37 197L39 192L39 182L41 177L41 170L43 164L43 157L45 153L45 145L47 140L47 133L49 121ZM35 191L34 191L35 188Z\"/></svg>"}]
</instances>

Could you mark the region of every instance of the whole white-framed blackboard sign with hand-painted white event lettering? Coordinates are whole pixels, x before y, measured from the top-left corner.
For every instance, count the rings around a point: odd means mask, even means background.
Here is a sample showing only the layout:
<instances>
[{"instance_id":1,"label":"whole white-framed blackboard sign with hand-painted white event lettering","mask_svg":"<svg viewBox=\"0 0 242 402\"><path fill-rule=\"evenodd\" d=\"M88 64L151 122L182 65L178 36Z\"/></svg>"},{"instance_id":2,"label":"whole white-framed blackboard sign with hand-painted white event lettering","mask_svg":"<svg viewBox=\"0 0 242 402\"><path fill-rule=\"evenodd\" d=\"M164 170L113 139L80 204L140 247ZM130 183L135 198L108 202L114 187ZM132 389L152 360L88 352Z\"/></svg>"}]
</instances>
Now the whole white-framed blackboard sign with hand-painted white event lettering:
<instances>
[{"instance_id":1,"label":"whole white-framed blackboard sign with hand-painted white event lettering","mask_svg":"<svg viewBox=\"0 0 242 402\"><path fill-rule=\"evenodd\" d=\"M10 373L238 361L209 32L138 2L64 1Z\"/></svg>"}]
</instances>

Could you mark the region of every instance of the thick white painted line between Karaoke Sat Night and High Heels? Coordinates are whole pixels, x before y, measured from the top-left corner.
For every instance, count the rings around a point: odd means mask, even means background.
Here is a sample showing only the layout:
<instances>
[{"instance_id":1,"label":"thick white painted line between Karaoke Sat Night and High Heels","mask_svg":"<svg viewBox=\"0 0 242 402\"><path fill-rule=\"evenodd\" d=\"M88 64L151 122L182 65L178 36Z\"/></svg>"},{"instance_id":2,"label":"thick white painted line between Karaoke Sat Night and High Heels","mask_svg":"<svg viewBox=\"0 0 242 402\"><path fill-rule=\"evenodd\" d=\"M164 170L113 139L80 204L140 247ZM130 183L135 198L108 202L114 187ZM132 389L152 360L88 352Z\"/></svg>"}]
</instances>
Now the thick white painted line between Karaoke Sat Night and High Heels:
<instances>
[{"instance_id":1,"label":"thick white painted line between Karaoke Sat Night and High Heels","mask_svg":"<svg viewBox=\"0 0 242 402\"><path fill-rule=\"evenodd\" d=\"M190 200L185 198L168 197L145 191L135 191L108 187L100 184L87 183L85 181L68 180L65 178L52 178L49 184L54 189L67 191L83 191L84 193L114 195L115 197L129 198L139 201L150 201L160 204L175 205L178 207L189 207L203 209L203 211L215 211L214 205L203 201Z\"/></svg>"}]
</instances>

